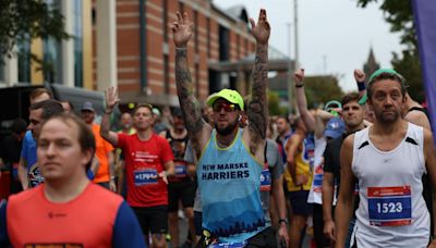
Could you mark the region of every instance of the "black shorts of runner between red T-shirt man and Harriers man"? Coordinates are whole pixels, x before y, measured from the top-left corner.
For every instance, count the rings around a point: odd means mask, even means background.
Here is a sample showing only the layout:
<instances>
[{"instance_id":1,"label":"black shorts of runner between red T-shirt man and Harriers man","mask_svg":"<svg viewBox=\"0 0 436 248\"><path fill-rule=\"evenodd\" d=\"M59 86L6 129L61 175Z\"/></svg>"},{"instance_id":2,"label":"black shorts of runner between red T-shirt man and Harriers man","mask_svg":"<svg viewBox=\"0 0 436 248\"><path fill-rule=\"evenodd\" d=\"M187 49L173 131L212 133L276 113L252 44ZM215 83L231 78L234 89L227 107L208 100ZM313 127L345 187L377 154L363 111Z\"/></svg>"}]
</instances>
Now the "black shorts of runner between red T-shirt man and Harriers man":
<instances>
[{"instance_id":1,"label":"black shorts of runner between red T-shirt man and Harriers man","mask_svg":"<svg viewBox=\"0 0 436 248\"><path fill-rule=\"evenodd\" d=\"M192 208L195 199L195 183L190 177L180 182L170 182L168 184L168 212L179 210L179 199L183 208Z\"/></svg>"}]
</instances>

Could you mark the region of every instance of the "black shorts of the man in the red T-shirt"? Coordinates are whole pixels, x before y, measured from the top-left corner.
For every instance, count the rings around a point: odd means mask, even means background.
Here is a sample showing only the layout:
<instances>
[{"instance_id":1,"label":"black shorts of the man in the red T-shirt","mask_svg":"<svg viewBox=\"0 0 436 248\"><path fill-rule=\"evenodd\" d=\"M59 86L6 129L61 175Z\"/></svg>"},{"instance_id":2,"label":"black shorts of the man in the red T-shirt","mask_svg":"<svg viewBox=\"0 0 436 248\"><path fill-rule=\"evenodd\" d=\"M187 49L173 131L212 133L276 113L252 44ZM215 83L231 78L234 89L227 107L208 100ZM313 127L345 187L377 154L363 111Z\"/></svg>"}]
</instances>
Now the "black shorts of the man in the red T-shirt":
<instances>
[{"instance_id":1,"label":"black shorts of the man in the red T-shirt","mask_svg":"<svg viewBox=\"0 0 436 248\"><path fill-rule=\"evenodd\" d=\"M132 207L144 235L168 233L168 206Z\"/></svg>"}]
</instances>

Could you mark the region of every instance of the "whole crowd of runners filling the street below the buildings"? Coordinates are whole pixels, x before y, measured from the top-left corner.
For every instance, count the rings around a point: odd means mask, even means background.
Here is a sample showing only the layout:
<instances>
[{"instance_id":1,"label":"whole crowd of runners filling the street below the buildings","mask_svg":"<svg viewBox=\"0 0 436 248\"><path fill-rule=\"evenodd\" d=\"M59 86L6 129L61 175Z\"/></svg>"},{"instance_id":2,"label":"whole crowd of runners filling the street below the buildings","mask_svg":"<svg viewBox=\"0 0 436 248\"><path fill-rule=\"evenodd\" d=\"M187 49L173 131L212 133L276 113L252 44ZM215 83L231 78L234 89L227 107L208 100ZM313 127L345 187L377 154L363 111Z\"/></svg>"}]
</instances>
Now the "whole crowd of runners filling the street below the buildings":
<instances>
[{"instance_id":1,"label":"whole crowd of runners filling the street below the buildings","mask_svg":"<svg viewBox=\"0 0 436 248\"><path fill-rule=\"evenodd\" d=\"M428 113L401 74L355 70L355 92L310 109L301 69L299 114L269 116L266 11L251 25L250 96L195 98L186 13L171 24L180 108L137 103L114 120L111 87L104 113L84 102L76 116L34 90L29 124L1 142L13 195L0 246L296 248L310 234L318 248L436 247Z\"/></svg>"}]
</instances>

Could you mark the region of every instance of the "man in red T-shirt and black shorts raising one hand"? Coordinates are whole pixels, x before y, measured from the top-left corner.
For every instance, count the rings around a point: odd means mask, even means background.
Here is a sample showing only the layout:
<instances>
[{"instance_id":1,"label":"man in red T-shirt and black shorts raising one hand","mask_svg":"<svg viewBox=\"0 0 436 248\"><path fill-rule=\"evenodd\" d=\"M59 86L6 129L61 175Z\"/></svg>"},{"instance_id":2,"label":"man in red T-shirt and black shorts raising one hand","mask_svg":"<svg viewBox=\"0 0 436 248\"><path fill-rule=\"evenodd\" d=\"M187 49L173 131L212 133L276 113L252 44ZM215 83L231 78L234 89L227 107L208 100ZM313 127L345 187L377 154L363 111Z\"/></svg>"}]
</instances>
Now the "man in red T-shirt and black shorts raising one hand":
<instances>
[{"instance_id":1,"label":"man in red T-shirt and black shorts raising one hand","mask_svg":"<svg viewBox=\"0 0 436 248\"><path fill-rule=\"evenodd\" d=\"M167 139L153 132L153 107L138 104L133 110L135 134L109 131L109 116L120 101L117 90L106 91L106 111L100 135L120 148L125 161L128 203L133 208L143 230L145 243L152 233L150 247L167 247L168 189L167 175L174 175L174 156Z\"/></svg>"}]
</instances>

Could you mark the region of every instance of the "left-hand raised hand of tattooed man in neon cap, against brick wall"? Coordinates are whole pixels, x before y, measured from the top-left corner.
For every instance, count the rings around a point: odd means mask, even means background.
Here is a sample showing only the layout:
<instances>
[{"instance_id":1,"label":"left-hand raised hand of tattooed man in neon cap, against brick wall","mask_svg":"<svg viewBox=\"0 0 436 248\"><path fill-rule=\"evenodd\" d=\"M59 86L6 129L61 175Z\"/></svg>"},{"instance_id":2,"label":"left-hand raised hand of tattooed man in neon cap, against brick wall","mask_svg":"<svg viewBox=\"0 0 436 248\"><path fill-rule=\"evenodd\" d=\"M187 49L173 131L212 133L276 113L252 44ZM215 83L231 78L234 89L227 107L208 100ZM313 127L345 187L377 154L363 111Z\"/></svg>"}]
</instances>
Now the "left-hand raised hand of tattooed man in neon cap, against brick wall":
<instances>
[{"instance_id":1,"label":"left-hand raised hand of tattooed man in neon cap, against brick wall","mask_svg":"<svg viewBox=\"0 0 436 248\"><path fill-rule=\"evenodd\" d=\"M192 36L194 24L187 17L186 12L183 13L183 16L180 12L177 12L177 16L178 21L171 24L172 36L175 47L184 48Z\"/></svg>"}]
</instances>

